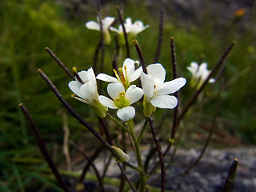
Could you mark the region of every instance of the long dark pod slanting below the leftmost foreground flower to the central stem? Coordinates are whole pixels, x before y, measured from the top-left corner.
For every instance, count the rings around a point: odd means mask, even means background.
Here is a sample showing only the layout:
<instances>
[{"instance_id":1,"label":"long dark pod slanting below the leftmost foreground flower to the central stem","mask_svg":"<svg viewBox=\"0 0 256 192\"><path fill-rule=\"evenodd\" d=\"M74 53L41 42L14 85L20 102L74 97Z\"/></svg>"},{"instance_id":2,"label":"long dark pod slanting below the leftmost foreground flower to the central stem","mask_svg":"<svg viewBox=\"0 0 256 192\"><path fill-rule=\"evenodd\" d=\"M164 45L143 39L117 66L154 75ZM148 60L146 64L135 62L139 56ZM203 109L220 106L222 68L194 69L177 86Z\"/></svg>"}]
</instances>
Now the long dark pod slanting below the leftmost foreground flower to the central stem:
<instances>
[{"instance_id":1,"label":"long dark pod slanting below the leftmost foreground flower to the central stem","mask_svg":"<svg viewBox=\"0 0 256 192\"><path fill-rule=\"evenodd\" d=\"M74 118L76 118L78 120L78 122L80 122L82 124L82 126L85 126L87 130L90 130L91 134L94 134L95 138L98 139L98 141L102 142L102 145L104 145L106 147L107 150L110 151L111 154L114 155L115 158L117 159L122 159L122 157L120 156L120 154L118 154L118 152L116 150L114 150L110 144L108 142L106 142L106 140L104 138L102 138L102 136L100 134L98 134L98 132L96 130L94 130L93 126L90 126L90 124L88 122L86 122L71 106L68 102L66 102L66 100L62 97L62 94L60 94L57 90L57 88L54 86L54 84L50 81L50 79L46 76L46 74L44 74L42 72L42 70L38 70L38 74L41 75L41 77L43 78L43 80L46 81L46 83L48 84L48 86L50 86L50 89L54 92L54 94L56 95L56 97L58 98L58 100L60 102L62 102L62 105L66 107L66 110L68 110L70 112L70 114L72 114L74 116ZM123 162L126 166L129 166L131 169L133 170L138 170L138 167L131 165L129 162Z\"/></svg>"}]
</instances>

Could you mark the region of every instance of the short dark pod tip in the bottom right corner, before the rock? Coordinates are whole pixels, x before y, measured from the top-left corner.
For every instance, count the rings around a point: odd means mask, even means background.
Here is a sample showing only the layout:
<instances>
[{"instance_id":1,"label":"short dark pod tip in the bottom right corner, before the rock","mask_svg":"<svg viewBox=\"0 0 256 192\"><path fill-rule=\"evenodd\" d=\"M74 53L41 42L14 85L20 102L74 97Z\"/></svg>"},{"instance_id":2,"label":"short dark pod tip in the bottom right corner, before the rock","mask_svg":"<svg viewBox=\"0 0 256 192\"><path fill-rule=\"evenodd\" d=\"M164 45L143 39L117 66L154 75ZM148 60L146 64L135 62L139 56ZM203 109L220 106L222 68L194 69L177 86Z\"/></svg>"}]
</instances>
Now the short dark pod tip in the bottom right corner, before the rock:
<instances>
[{"instance_id":1,"label":"short dark pod tip in the bottom right corner, before the rock","mask_svg":"<svg viewBox=\"0 0 256 192\"><path fill-rule=\"evenodd\" d=\"M238 169L238 159L234 158L234 161L232 162L232 164L230 166L230 171L227 174L226 181L225 181L224 186L222 187L221 192L230 191L230 188L231 188L231 186L234 182L234 178L235 178L235 174L237 172L237 169Z\"/></svg>"}]
</instances>

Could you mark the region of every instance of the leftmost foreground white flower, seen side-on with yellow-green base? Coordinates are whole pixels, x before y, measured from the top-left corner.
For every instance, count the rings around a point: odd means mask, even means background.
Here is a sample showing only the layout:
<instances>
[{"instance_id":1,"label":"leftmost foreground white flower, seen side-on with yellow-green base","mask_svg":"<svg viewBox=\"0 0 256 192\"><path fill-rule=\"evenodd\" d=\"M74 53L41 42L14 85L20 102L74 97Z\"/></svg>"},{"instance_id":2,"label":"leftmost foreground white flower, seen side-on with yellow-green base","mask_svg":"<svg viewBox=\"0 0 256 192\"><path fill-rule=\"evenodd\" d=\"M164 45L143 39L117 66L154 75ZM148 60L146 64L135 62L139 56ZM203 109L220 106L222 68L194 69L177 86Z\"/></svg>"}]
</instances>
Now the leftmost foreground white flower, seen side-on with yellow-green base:
<instances>
[{"instance_id":1,"label":"leftmost foreground white flower, seen side-on with yellow-green base","mask_svg":"<svg viewBox=\"0 0 256 192\"><path fill-rule=\"evenodd\" d=\"M92 106L98 117L106 117L107 107L103 106L102 103L98 101L99 95L96 78L94 70L91 67L87 71L82 70L76 73L76 78L74 81L69 83L69 87L76 95L73 96L74 98Z\"/></svg>"}]
</instances>

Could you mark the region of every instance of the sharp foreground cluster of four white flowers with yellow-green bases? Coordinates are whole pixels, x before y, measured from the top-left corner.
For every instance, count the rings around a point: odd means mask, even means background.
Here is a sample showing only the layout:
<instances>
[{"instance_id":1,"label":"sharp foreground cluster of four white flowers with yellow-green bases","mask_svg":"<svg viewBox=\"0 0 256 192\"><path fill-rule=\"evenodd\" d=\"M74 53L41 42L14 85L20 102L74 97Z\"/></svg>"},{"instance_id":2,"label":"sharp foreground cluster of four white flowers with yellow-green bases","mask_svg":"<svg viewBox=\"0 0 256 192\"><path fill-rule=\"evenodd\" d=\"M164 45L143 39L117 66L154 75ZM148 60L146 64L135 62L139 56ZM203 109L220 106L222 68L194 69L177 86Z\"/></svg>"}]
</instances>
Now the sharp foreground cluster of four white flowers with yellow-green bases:
<instances>
[{"instance_id":1,"label":"sharp foreground cluster of four white flowers with yellow-green bases","mask_svg":"<svg viewBox=\"0 0 256 192\"><path fill-rule=\"evenodd\" d=\"M126 58L122 68L119 69L120 75L114 70L115 78L108 74L98 74L95 78L94 70L81 71L76 74L75 81L69 83L70 90L76 94L74 98L86 102L96 111L99 117L106 116L107 107L116 109L118 118L128 121L135 116L134 102L138 102L144 95L143 106L144 114L149 117L158 108L173 109L177 105L177 98L173 94L186 84L186 78L176 78L170 82L164 82L166 70L159 64L147 66L148 74L142 71L142 67L135 69L138 61ZM131 85L138 78L141 78L142 88ZM107 93L110 98L99 95L96 79L110 82L107 86ZM105 115L104 115L105 114Z\"/></svg>"}]
</instances>

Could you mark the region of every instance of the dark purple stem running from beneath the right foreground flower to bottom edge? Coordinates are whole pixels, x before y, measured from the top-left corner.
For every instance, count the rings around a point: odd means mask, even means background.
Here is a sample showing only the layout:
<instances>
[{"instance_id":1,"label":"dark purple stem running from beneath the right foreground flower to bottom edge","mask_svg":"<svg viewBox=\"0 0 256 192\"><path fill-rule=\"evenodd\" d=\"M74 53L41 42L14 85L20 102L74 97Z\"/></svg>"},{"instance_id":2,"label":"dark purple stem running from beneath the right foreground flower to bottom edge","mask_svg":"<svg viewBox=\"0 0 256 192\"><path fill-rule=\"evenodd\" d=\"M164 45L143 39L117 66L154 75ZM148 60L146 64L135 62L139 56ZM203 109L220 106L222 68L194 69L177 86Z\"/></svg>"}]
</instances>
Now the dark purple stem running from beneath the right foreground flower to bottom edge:
<instances>
[{"instance_id":1,"label":"dark purple stem running from beneath the right foreground flower to bottom edge","mask_svg":"<svg viewBox=\"0 0 256 192\"><path fill-rule=\"evenodd\" d=\"M149 118L149 122L150 122L150 129L152 132L152 136L154 138L154 143L155 143L155 146L158 151L158 158L159 158L159 162L160 162L160 166L161 166L161 192L164 192L165 191L166 167L165 167L165 163L163 161L162 149L161 149L161 145L159 142L157 130L154 126L154 120L152 117Z\"/></svg>"}]
</instances>

